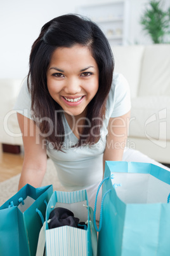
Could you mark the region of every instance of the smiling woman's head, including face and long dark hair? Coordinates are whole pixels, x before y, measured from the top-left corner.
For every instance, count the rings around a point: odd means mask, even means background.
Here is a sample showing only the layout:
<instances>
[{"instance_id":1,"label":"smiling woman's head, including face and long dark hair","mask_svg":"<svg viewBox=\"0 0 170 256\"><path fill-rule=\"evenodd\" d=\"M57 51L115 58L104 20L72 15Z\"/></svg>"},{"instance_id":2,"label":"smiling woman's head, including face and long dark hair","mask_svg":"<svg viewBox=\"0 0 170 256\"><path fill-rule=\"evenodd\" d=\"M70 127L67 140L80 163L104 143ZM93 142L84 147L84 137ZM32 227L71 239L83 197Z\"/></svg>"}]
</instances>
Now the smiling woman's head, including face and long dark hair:
<instances>
[{"instance_id":1,"label":"smiling woman's head, including face and long dark hair","mask_svg":"<svg viewBox=\"0 0 170 256\"><path fill-rule=\"evenodd\" d=\"M63 15L42 27L30 53L27 82L34 120L41 118L39 129L42 134L49 134L46 139L55 143L57 150L62 150L65 138L62 111L74 134L78 131L73 123L84 118L79 122L83 127L77 134L77 146L100 139L113 69L108 41L90 20L78 15ZM44 117L52 124L57 118L53 131Z\"/></svg>"}]
</instances>

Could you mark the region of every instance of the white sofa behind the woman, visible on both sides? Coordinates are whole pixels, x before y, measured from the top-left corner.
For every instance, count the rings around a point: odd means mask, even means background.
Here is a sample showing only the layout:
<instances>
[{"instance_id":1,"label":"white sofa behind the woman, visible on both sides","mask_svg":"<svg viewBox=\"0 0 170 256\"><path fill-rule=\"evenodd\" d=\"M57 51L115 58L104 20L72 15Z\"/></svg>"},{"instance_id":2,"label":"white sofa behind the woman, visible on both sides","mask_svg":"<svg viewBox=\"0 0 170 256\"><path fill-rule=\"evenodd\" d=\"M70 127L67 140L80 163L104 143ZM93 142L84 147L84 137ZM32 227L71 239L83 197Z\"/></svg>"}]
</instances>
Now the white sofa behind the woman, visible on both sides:
<instances>
[{"instance_id":1,"label":"white sofa behind the woman, visible on both sides","mask_svg":"<svg viewBox=\"0 0 170 256\"><path fill-rule=\"evenodd\" d=\"M112 51L115 71L126 77L131 89L127 145L170 163L170 45L115 46ZM9 114L21 82L0 80L1 124L5 121L0 128L1 143L22 145L16 115Z\"/></svg>"}]
</instances>

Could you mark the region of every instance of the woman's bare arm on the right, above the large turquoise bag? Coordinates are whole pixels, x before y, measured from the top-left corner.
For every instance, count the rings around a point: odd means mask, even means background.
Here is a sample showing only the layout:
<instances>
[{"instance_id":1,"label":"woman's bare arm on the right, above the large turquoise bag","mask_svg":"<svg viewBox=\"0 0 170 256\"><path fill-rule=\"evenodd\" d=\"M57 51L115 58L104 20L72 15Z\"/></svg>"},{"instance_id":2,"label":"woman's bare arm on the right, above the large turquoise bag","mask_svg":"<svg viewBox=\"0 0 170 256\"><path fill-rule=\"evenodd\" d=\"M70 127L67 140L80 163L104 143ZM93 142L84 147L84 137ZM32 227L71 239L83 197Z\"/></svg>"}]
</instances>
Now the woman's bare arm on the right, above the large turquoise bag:
<instances>
[{"instance_id":1,"label":"woman's bare arm on the right, above the large turquoise bag","mask_svg":"<svg viewBox=\"0 0 170 256\"><path fill-rule=\"evenodd\" d=\"M106 160L121 161L128 136L130 111L122 117L110 118L108 122L108 135L103 155L103 170Z\"/></svg>"}]
</instances>

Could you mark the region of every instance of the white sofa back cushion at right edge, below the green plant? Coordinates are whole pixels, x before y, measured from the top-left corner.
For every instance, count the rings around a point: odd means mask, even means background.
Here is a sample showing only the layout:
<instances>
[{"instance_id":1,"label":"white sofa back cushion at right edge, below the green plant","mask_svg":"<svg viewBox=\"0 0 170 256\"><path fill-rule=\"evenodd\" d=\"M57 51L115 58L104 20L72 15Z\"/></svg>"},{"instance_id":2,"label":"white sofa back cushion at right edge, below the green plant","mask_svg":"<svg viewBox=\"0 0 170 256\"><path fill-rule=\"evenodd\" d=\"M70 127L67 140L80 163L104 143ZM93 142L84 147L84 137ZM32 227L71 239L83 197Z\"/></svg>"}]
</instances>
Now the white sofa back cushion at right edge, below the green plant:
<instances>
[{"instance_id":1,"label":"white sofa back cushion at right edge, below the green plant","mask_svg":"<svg viewBox=\"0 0 170 256\"><path fill-rule=\"evenodd\" d=\"M170 96L170 45L145 47L139 96Z\"/></svg>"}]
</instances>

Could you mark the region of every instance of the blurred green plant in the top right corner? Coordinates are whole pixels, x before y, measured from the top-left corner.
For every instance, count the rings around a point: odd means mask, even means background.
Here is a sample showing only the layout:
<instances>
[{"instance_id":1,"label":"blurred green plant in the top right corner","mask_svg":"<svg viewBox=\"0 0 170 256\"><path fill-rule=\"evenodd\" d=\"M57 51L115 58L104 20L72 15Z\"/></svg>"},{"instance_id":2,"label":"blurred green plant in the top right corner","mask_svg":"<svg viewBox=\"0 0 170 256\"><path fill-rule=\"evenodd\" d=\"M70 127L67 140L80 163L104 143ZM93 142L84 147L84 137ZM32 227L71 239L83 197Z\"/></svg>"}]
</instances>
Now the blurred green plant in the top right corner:
<instances>
[{"instance_id":1,"label":"blurred green plant in the top right corner","mask_svg":"<svg viewBox=\"0 0 170 256\"><path fill-rule=\"evenodd\" d=\"M154 43L166 43L167 34L170 33L170 8L162 10L160 2L151 0L140 21Z\"/></svg>"}]
</instances>

